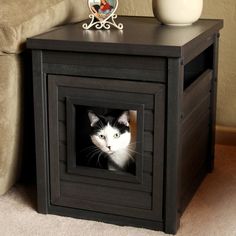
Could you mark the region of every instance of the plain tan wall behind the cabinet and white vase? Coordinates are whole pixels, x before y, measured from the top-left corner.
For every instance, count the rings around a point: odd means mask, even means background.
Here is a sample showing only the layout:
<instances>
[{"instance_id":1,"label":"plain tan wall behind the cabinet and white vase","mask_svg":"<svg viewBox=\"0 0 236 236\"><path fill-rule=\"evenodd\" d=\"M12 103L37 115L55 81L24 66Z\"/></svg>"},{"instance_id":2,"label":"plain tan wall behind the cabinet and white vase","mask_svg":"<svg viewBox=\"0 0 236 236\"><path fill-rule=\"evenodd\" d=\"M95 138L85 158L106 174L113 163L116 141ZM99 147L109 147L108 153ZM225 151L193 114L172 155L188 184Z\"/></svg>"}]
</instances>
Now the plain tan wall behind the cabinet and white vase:
<instances>
[{"instance_id":1,"label":"plain tan wall behind the cabinet and white vase","mask_svg":"<svg viewBox=\"0 0 236 236\"><path fill-rule=\"evenodd\" d=\"M120 0L118 14L152 15L151 0ZM236 1L204 0L202 18L224 19L220 38L217 124L236 127Z\"/></svg>"}]
</instances>

